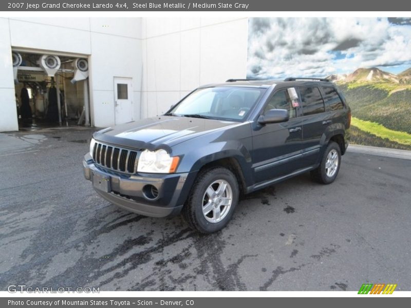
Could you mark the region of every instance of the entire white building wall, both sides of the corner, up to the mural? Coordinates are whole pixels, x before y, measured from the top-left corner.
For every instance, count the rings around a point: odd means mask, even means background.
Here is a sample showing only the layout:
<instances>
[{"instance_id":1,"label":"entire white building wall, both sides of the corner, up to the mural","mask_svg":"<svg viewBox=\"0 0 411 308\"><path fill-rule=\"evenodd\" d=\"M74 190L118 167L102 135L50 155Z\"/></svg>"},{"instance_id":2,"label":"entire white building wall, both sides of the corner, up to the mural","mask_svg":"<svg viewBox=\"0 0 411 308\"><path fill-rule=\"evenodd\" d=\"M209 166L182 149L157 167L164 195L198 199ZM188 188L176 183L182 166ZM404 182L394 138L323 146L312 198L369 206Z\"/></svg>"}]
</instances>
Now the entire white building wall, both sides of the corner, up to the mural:
<instances>
[{"instance_id":1,"label":"entire white building wall, both sides of the corner, up to the mural","mask_svg":"<svg viewBox=\"0 0 411 308\"><path fill-rule=\"evenodd\" d=\"M0 131L17 130L11 47L89 60L92 125L114 125L114 77L133 79L134 119L202 84L245 78L247 18L0 18Z\"/></svg>"}]
</instances>

